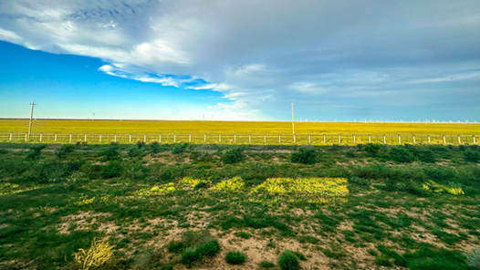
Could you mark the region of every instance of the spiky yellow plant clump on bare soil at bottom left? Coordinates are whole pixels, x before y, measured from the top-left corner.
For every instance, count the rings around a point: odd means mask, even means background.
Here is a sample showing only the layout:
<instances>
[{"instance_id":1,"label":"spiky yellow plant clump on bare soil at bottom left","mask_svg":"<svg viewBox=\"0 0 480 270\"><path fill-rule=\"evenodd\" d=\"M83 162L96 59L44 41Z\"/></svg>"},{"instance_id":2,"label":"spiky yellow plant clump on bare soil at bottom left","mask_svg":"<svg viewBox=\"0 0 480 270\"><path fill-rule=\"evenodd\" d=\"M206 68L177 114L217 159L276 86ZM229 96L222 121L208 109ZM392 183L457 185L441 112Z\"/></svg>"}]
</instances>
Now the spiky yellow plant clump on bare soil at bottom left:
<instances>
[{"instance_id":1,"label":"spiky yellow plant clump on bare soil at bottom left","mask_svg":"<svg viewBox=\"0 0 480 270\"><path fill-rule=\"evenodd\" d=\"M90 268L99 267L109 262L113 255L111 251L112 248L113 246L110 244L94 239L88 251L80 248L78 252L73 255L81 269L89 270Z\"/></svg>"}]
</instances>

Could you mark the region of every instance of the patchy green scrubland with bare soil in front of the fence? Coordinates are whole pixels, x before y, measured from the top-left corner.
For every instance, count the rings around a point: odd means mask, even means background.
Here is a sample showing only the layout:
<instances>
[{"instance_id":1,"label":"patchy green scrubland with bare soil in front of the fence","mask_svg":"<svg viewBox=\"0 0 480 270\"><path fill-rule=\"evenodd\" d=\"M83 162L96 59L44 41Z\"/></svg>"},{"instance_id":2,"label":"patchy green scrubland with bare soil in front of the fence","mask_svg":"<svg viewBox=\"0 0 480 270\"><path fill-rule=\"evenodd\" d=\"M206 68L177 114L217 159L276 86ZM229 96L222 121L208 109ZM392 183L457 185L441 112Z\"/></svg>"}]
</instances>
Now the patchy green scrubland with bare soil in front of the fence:
<instances>
[{"instance_id":1,"label":"patchy green scrubland with bare soil in front of the fence","mask_svg":"<svg viewBox=\"0 0 480 270\"><path fill-rule=\"evenodd\" d=\"M479 161L476 145L0 144L0 268L81 269L83 249L105 258L89 269L474 270Z\"/></svg>"}]
</instances>

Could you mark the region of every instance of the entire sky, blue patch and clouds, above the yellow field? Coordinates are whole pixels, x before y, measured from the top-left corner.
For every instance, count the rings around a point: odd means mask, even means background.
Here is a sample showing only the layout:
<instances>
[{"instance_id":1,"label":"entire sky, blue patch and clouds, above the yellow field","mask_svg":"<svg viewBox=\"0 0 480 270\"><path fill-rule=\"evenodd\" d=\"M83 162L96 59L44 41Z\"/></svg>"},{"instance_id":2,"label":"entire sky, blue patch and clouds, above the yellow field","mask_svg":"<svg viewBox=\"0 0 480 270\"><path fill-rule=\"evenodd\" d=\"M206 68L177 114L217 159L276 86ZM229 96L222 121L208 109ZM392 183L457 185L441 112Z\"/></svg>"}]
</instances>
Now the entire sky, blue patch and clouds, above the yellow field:
<instances>
[{"instance_id":1,"label":"entire sky, blue patch and clouds, above the yellow field","mask_svg":"<svg viewBox=\"0 0 480 270\"><path fill-rule=\"evenodd\" d=\"M2 0L0 118L480 121L478 0Z\"/></svg>"}]
</instances>

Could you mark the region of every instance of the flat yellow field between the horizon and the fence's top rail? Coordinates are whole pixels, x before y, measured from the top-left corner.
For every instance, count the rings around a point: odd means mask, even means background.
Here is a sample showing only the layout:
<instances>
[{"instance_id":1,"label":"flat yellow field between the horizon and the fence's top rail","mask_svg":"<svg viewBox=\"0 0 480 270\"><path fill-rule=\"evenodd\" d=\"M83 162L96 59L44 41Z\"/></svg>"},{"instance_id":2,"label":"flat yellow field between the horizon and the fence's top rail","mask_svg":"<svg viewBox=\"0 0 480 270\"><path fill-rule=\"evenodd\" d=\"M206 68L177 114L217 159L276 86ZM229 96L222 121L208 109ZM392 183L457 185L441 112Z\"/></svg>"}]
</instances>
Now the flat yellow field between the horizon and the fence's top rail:
<instances>
[{"instance_id":1,"label":"flat yellow field between the horizon and the fence's top rail","mask_svg":"<svg viewBox=\"0 0 480 270\"><path fill-rule=\"evenodd\" d=\"M0 131L26 132L26 119L0 119ZM296 122L297 134L478 135L480 124ZM34 120L32 132L89 134L291 134L291 122Z\"/></svg>"}]
</instances>

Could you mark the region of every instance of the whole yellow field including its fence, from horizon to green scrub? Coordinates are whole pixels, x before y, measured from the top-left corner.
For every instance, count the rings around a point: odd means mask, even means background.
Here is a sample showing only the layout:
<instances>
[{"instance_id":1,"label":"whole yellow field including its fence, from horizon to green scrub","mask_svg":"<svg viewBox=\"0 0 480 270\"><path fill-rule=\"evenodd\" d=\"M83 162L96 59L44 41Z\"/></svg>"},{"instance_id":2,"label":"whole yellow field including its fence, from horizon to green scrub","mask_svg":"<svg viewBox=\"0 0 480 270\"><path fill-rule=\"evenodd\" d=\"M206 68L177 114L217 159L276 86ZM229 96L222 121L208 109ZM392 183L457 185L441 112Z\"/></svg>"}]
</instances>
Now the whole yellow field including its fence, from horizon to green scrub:
<instances>
[{"instance_id":1,"label":"whole yellow field including its fence, from horizon to green scrub","mask_svg":"<svg viewBox=\"0 0 480 270\"><path fill-rule=\"evenodd\" d=\"M26 141L28 120L0 119L0 140ZM35 142L89 143L252 143L357 144L433 143L472 144L480 140L480 124L361 123L167 120L34 120Z\"/></svg>"}]
</instances>

